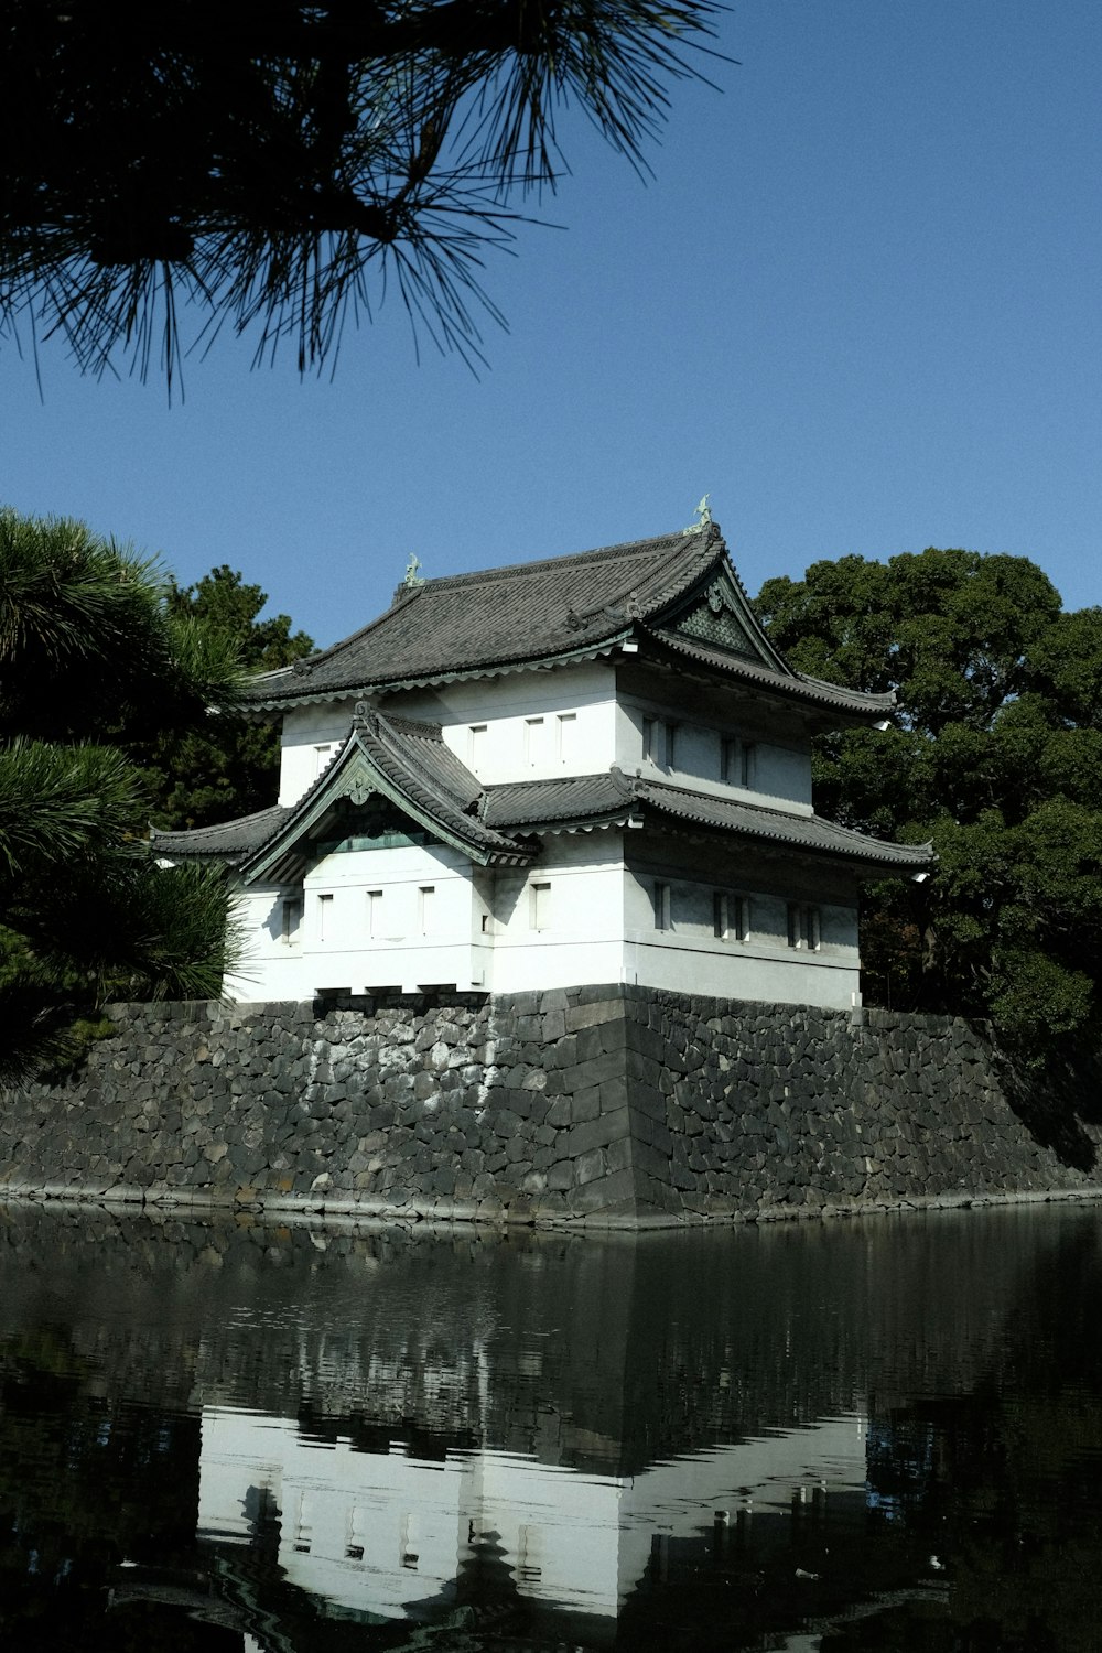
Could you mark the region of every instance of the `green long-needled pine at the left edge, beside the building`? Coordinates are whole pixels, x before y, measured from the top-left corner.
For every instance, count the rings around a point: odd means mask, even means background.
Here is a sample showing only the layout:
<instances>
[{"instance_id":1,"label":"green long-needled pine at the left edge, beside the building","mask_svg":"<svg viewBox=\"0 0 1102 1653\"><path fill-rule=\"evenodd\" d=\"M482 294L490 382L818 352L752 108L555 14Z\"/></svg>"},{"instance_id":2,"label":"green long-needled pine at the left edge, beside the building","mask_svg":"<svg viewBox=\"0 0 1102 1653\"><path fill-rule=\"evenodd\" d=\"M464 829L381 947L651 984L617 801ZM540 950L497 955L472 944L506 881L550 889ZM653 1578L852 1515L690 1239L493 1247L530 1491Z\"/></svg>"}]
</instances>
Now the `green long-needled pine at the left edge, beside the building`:
<instances>
[{"instance_id":1,"label":"green long-needled pine at the left edge, beside the building","mask_svg":"<svg viewBox=\"0 0 1102 1653\"><path fill-rule=\"evenodd\" d=\"M121 750L233 707L216 631L83 524L0 511L0 1078L74 1048L112 998L210 997L235 946L223 876L157 868ZM79 1040L78 1040L79 1043Z\"/></svg>"}]
</instances>

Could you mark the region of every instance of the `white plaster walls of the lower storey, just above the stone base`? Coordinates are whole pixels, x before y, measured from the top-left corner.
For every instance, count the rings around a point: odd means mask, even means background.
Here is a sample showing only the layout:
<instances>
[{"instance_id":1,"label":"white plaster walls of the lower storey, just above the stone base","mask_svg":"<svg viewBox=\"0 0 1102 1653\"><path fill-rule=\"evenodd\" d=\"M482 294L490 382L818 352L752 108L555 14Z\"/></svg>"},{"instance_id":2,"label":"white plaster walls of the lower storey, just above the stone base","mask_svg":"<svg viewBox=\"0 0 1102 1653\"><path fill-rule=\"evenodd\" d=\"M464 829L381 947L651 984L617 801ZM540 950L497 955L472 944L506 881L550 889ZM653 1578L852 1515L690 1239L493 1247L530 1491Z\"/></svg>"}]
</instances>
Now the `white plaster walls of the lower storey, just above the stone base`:
<instances>
[{"instance_id":1,"label":"white plaster walls of the lower storey, just above the stone base","mask_svg":"<svg viewBox=\"0 0 1102 1653\"><path fill-rule=\"evenodd\" d=\"M628 871L623 856L625 833L611 830L549 836L534 866L474 876L443 846L330 855L306 878L292 939L283 934L283 899L294 891L268 886L240 898L249 954L226 992L263 1002L380 987L514 993L633 982L824 1008L859 1002L853 903L810 893L806 883L781 893L742 884L719 866L707 879L661 861ZM669 886L669 929L656 926L656 881ZM743 898L745 939L714 934L717 891ZM818 950L788 946L790 899L816 906Z\"/></svg>"}]
</instances>

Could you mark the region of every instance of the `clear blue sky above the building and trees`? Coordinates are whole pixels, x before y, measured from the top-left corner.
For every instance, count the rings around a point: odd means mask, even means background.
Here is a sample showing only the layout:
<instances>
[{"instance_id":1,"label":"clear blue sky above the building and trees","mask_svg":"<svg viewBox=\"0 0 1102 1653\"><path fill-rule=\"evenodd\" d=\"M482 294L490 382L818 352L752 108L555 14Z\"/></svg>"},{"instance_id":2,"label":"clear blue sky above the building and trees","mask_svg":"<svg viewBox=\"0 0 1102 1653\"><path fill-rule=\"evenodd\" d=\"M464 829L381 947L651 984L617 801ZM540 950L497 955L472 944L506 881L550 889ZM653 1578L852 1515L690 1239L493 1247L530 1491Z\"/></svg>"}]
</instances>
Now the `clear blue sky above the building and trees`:
<instances>
[{"instance_id":1,"label":"clear blue sky above the building and trees","mask_svg":"<svg viewBox=\"0 0 1102 1653\"><path fill-rule=\"evenodd\" d=\"M588 127L487 255L474 379L405 311L335 382L220 342L164 383L0 355L0 499L180 579L240 569L321 643L453 574L691 521L750 590L819 557L965 545L1102 602L1102 5L743 0L722 94L672 89L656 177Z\"/></svg>"}]
</instances>

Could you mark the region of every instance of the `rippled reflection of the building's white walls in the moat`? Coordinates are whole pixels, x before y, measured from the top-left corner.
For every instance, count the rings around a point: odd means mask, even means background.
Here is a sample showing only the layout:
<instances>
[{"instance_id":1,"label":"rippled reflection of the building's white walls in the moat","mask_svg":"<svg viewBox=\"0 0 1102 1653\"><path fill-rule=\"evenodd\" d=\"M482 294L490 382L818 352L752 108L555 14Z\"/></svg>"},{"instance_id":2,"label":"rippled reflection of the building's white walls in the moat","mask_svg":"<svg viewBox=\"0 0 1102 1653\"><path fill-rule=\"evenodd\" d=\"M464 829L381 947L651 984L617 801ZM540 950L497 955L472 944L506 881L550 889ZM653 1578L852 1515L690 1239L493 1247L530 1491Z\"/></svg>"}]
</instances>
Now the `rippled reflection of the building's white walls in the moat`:
<instances>
[{"instance_id":1,"label":"rippled reflection of the building's white walls in the moat","mask_svg":"<svg viewBox=\"0 0 1102 1653\"><path fill-rule=\"evenodd\" d=\"M831 1418L654 1465L582 1474L515 1453L443 1460L357 1451L304 1436L291 1418L207 1407L198 1537L266 1546L286 1577L368 1618L435 1618L494 1567L519 1597L615 1617L671 1544L727 1547L767 1514L862 1496L866 1423ZM278 1527L278 1532L276 1532ZM466 1589L464 1589L466 1585Z\"/></svg>"}]
</instances>

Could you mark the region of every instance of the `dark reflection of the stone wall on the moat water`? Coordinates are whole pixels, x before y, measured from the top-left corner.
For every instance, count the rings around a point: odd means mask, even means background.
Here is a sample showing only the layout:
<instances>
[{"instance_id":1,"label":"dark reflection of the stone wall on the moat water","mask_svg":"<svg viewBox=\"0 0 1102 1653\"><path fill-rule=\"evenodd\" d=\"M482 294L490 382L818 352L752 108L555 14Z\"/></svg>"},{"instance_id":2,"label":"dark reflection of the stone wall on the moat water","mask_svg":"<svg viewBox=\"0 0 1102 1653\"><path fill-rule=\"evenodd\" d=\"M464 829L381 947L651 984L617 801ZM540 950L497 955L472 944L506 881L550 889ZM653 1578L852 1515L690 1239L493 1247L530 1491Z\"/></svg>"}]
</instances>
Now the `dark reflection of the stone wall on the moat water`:
<instances>
[{"instance_id":1,"label":"dark reflection of the stone wall on the moat water","mask_svg":"<svg viewBox=\"0 0 1102 1653\"><path fill-rule=\"evenodd\" d=\"M48 1354L104 1403L633 1474L967 1393L1014 1349L1038 1382L1043 1362L1097 1367L1097 1288L1095 1213L1076 1205L638 1236L18 1205L0 1207L0 1380Z\"/></svg>"}]
</instances>

